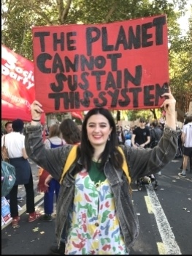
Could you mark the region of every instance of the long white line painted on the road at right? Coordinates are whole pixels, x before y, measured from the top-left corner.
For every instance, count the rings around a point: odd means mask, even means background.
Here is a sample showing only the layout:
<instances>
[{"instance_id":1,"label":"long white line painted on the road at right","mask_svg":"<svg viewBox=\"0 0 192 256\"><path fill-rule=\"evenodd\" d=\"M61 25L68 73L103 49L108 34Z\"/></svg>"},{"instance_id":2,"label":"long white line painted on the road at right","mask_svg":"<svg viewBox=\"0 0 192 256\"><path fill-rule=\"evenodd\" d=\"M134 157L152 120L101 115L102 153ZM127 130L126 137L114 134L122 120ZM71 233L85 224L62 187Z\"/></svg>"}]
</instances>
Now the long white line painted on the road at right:
<instances>
[{"instance_id":1,"label":"long white line painted on the road at right","mask_svg":"<svg viewBox=\"0 0 192 256\"><path fill-rule=\"evenodd\" d=\"M158 197L155 194L152 184L145 185L147 189L147 194L150 199L150 203L153 207L153 213L155 216L155 220L158 225L158 230L161 235L162 242L164 244L164 252L159 251L159 254L163 255L182 255L180 252L180 247L177 245L175 241L174 234L172 233L172 229L169 225L168 220L166 219L166 215L161 208L161 204L158 201ZM161 247L158 247L161 250Z\"/></svg>"}]
</instances>

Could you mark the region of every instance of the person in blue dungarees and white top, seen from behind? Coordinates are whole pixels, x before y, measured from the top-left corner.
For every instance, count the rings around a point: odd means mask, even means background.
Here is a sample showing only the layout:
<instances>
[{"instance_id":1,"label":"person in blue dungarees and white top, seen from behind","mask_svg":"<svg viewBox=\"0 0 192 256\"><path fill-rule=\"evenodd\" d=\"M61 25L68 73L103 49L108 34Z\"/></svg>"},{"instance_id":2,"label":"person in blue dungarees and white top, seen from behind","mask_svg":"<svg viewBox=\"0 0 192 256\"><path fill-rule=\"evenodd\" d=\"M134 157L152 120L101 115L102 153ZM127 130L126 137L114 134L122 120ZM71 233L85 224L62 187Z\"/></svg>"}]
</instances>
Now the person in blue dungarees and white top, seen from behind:
<instances>
[{"instance_id":1,"label":"person in blue dungarees and white top, seen from behind","mask_svg":"<svg viewBox=\"0 0 192 256\"><path fill-rule=\"evenodd\" d=\"M50 131L47 139L45 139L45 148L55 148L55 147L61 147L66 142L64 139L61 139L61 132L59 129L58 124L54 124L50 126ZM49 174L47 173L47 177L49 177ZM40 178L39 178L40 179ZM42 181L43 182L43 181ZM39 187L41 184L38 184ZM41 187L42 189L42 187ZM49 184L45 185L45 194L44 194L44 212L45 214L41 216L41 219L45 222L52 222L52 213L53 213L53 201L54 201L54 195L56 196L56 200L58 198L58 191L60 189L60 184L58 183L58 180L50 179Z\"/></svg>"}]
</instances>

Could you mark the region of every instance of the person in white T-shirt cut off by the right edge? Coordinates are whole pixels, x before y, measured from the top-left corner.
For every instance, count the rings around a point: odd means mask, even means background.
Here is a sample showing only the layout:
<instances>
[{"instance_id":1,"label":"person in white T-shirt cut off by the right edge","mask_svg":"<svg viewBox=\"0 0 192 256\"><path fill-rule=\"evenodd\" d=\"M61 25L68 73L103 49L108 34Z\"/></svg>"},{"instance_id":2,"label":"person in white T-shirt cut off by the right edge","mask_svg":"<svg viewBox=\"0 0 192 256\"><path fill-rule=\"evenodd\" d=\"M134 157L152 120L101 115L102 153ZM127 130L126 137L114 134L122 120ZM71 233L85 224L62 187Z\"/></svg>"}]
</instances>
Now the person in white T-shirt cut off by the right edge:
<instances>
[{"instance_id":1,"label":"person in white T-shirt cut off by the right edge","mask_svg":"<svg viewBox=\"0 0 192 256\"><path fill-rule=\"evenodd\" d=\"M188 123L183 125L181 139L183 142L183 171L179 172L180 177L186 177L188 160L192 158L192 115L188 116ZM192 172L190 164L190 172Z\"/></svg>"}]
</instances>

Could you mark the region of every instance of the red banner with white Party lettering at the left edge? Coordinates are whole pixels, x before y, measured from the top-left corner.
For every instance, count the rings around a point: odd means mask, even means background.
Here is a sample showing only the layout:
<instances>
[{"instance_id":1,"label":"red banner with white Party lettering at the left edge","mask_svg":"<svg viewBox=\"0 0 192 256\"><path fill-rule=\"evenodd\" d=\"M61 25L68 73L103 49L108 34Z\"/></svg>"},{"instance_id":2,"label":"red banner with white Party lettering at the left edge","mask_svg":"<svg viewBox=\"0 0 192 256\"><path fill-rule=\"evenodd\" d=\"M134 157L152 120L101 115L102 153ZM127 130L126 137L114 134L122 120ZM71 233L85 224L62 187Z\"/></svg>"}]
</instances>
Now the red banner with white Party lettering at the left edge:
<instances>
[{"instance_id":1,"label":"red banner with white Party lettering at the left edge","mask_svg":"<svg viewBox=\"0 0 192 256\"><path fill-rule=\"evenodd\" d=\"M1 119L31 121L35 100L34 63L1 45ZM41 101L41 100L40 100ZM81 112L72 116L82 120ZM45 114L42 115L45 123Z\"/></svg>"}]
</instances>

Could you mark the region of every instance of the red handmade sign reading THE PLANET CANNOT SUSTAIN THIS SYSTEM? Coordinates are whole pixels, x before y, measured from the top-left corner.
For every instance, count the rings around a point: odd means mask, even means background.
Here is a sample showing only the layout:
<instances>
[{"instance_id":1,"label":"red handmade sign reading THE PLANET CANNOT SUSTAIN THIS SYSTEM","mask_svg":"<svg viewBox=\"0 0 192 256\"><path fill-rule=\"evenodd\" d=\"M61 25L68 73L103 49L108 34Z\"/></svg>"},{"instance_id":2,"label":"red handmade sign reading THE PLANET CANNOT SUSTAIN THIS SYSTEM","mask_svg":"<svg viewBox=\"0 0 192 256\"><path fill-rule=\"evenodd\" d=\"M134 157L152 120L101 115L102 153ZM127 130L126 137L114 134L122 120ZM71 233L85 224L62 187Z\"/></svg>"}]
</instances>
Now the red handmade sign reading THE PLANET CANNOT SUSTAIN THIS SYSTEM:
<instances>
[{"instance_id":1,"label":"red handmade sign reading THE PLANET CANNOT SUSTAIN THIS SYSTEM","mask_svg":"<svg viewBox=\"0 0 192 256\"><path fill-rule=\"evenodd\" d=\"M45 112L154 109L169 84L166 15L33 28L36 98Z\"/></svg>"}]
</instances>

